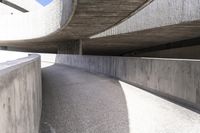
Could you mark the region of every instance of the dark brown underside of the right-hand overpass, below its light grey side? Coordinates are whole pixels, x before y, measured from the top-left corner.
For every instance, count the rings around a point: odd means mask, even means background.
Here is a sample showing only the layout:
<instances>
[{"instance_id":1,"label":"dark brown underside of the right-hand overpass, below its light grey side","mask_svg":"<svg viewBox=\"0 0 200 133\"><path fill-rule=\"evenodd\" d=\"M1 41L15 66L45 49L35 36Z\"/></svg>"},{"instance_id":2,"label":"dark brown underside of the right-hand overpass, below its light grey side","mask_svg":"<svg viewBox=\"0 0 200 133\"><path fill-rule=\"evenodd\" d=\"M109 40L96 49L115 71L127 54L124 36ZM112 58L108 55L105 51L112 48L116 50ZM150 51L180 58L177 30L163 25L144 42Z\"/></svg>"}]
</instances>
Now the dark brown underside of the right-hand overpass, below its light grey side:
<instances>
[{"instance_id":1,"label":"dark brown underside of the right-hand overpass, below its light grey side","mask_svg":"<svg viewBox=\"0 0 200 133\"><path fill-rule=\"evenodd\" d=\"M200 21L84 40L84 53L123 55L134 50L200 37ZM199 42L197 42L199 43Z\"/></svg>"}]
</instances>

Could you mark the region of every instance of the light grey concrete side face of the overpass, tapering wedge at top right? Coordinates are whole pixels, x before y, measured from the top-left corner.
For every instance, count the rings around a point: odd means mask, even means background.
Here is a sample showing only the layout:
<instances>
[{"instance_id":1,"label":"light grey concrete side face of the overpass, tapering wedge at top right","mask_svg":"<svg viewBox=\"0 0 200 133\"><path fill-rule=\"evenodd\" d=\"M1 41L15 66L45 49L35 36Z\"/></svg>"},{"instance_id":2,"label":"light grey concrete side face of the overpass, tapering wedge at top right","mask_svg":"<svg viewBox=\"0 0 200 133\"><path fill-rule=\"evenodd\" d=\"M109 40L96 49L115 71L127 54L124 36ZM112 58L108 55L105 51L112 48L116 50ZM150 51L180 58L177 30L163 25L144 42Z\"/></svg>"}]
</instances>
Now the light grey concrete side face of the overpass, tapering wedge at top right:
<instances>
[{"instance_id":1,"label":"light grey concrete side face of the overpass, tapering wedge at top right","mask_svg":"<svg viewBox=\"0 0 200 133\"><path fill-rule=\"evenodd\" d=\"M152 3L126 21L91 38L199 21L199 7L200 0L153 0Z\"/></svg>"}]
</instances>

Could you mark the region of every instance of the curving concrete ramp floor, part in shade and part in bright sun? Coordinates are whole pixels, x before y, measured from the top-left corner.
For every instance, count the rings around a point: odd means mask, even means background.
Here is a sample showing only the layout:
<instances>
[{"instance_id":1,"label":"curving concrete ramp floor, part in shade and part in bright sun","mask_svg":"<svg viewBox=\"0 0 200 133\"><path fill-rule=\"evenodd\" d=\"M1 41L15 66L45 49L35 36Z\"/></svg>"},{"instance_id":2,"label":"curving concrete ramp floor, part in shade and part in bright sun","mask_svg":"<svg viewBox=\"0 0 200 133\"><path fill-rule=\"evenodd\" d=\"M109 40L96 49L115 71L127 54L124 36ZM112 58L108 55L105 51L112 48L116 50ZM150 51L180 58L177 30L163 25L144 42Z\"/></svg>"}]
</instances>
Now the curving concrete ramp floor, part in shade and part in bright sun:
<instances>
[{"instance_id":1,"label":"curving concrete ramp floor, part in shade and part in bright sun","mask_svg":"<svg viewBox=\"0 0 200 133\"><path fill-rule=\"evenodd\" d=\"M124 82L64 65L43 69L40 133L199 133L200 115Z\"/></svg>"}]
</instances>

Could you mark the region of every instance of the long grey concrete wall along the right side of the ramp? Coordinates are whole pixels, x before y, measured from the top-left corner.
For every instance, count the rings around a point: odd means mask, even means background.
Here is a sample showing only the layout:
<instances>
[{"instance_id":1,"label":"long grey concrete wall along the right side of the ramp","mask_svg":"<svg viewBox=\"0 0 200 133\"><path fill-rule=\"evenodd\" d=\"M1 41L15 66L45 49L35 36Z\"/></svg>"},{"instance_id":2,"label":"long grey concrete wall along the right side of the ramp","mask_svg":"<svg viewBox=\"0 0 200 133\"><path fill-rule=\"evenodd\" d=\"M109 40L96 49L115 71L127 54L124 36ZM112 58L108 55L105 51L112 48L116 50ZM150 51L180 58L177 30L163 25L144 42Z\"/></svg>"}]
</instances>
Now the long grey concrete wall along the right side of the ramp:
<instances>
[{"instance_id":1,"label":"long grey concrete wall along the right side of the ramp","mask_svg":"<svg viewBox=\"0 0 200 133\"><path fill-rule=\"evenodd\" d=\"M56 63L106 74L200 109L200 61L57 55Z\"/></svg>"}]
</instances>

